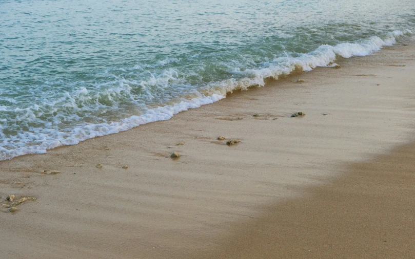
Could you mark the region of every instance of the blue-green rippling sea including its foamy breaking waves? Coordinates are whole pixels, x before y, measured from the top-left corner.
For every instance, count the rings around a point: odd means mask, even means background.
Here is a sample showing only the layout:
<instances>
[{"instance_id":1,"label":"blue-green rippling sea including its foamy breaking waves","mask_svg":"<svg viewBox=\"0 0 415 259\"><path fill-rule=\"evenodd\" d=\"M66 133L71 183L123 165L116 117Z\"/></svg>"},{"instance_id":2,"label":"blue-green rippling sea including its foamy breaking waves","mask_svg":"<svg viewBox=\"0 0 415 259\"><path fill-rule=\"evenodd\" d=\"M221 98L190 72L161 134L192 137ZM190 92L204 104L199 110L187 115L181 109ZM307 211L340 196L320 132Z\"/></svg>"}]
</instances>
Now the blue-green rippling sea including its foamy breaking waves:
<instances>
[{"instance_id":1,"label":"blue-green rippling sea including its foamy breaking waves","mask_svg":"<svg viewBox=\"0 0 415 259\"><path fill-rule=\"evenodd\" d=\"M166 120L415 33L415 0L0 0L0 160Z\"/></svg>"}]
</instances>

